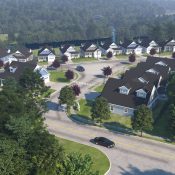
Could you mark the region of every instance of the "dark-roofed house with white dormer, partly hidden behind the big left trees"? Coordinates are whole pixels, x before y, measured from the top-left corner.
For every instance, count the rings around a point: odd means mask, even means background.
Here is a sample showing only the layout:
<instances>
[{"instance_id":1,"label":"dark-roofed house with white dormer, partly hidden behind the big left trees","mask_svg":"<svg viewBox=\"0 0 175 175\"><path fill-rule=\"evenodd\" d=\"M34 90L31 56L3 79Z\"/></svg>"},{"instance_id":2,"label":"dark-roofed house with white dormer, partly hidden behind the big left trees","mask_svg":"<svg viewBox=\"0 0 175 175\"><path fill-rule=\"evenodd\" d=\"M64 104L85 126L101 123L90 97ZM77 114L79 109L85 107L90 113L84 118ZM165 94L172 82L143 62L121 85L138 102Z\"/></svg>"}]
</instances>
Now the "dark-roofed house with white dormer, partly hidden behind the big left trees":
<instances>
[{"instance_id":1,"label":"dark-roofed house with white dormer, partly hidden behind the big left trees","mask_svg":"<svg viewBox=\"0 0 175 175\"><path fill-rule=\"evenodd\" d=\"M28 61L28 62L19 62L19 61L12 61L9 65L7 65L4 70L0 72L0 85L3 86L3 81L6 78L12 77L16 81L19 80L20 76L26 69L31 69L33 71L38 71L41 75L41 78L44 80L45 83L49 82L50 75L46 69L41 68L37 65L35 60Z\"/></svg>"}]
</instances>

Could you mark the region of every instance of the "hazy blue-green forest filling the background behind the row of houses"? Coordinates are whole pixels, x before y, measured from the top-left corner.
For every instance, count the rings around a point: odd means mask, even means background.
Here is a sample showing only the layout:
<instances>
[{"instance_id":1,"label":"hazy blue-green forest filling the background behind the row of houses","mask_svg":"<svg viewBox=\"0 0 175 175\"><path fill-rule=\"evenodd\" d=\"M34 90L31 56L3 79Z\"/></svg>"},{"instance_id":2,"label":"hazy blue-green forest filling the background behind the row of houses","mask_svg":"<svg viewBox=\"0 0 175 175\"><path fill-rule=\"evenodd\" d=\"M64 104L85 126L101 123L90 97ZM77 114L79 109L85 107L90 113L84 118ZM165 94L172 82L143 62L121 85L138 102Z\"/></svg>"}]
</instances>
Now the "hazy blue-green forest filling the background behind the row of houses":
<instances>
[{"instance_id":1,"label":"hazy blue-green forest filling the background behind the row of houses","mask_svg":"<svg viewBox=\"0 0 175 175\"><path fill-rule=\"evenodd\" d=\"M0 33L13 43L43 43L111 36L175 37L166 0L1 0Z\"/></svg>"}]
</instances>

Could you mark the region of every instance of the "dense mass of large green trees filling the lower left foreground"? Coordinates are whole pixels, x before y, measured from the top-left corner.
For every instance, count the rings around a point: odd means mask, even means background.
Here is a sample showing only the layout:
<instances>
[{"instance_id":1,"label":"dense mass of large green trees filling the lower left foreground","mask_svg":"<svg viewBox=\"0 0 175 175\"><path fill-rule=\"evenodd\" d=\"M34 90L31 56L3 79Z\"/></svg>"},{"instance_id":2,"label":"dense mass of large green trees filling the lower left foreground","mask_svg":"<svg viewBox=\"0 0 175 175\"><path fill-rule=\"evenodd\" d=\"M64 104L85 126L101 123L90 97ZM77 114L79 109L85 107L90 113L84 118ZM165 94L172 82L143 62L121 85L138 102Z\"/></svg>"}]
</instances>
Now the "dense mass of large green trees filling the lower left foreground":
<instances>
[{"instance_id":1,"label":"dense mass of large green trees filling the lower left foreground","mask_svg":"<svg viewBox=\"0 0 175 175\"><path fill-rule=\"evenodd\" d=\"M98 175L91 157L66 154L44 125L48 90L38 73L26 70L19 82L9 78L0 91L1 175Z\"/></svg>"}]
</instances>

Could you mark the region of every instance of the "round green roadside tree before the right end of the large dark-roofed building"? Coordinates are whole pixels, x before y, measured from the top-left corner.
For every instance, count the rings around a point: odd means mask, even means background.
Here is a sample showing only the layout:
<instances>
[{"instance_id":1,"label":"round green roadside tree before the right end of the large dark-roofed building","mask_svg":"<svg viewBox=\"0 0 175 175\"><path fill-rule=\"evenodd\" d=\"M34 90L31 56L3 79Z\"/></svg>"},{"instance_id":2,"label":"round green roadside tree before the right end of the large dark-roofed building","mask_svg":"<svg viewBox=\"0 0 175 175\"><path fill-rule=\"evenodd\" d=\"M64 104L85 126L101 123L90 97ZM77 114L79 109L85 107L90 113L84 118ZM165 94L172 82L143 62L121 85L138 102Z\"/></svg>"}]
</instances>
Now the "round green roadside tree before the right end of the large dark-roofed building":
<instances>
[{"instance_id":1,"label":"round green roadside tree before the right end of the large dark-roofed building","mask_svg":"<svg viewBox=\"0 0 175 175\"><path fill-rule=\"evenodd\" d=\"M153 128L152 111L146 105L140 105L132 117L132 128L135 131L149 131Z\"/></svg>"}]
</instances>

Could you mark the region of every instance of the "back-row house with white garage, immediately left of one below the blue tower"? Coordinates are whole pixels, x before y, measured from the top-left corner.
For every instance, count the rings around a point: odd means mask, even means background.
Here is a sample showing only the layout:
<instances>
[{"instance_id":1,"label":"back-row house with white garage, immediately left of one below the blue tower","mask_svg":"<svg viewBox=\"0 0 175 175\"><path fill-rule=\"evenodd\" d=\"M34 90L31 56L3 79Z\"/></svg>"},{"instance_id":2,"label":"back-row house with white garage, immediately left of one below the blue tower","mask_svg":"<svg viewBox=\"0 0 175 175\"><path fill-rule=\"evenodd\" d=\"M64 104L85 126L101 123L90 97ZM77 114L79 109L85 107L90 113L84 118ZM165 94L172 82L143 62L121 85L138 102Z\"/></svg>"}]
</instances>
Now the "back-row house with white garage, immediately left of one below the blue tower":
<instances>
[{"instance_id":1,"label":"back-row house with white garage, immediately left of one below the blue tower","mask_svg":"<svg viewBox=\"0 0 175 175\"><path fill-rule=\"evenodd\" d=\"M82 46L80 47L80 56L81 57L91 57L91 58L101 58L102 52L101 50L92 43L86 43L86 44L82 44Z\"/></svg>"}]
</instances>

